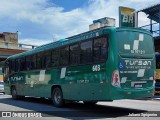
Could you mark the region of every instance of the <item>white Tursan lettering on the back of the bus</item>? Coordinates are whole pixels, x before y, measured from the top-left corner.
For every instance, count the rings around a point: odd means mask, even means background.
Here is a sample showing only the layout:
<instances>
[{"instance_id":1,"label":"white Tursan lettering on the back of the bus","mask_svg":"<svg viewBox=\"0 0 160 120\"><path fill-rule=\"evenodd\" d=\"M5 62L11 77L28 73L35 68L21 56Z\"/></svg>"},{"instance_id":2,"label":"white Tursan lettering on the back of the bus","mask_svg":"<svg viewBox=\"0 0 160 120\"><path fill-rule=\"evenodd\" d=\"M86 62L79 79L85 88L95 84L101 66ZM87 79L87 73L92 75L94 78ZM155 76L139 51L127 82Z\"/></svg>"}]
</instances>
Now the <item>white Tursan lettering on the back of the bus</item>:
<instances>
[{"instance_id":1,"label":"white Tursan lettering on the back of the bus","mask_svg":"<svg viewBox=\"0 0 160 120\"><path fill-rule=\"evenodd\" d=\"M126 66L151 66L151 61L142 60L125 60Z\"/></svg>"}]
</instances>

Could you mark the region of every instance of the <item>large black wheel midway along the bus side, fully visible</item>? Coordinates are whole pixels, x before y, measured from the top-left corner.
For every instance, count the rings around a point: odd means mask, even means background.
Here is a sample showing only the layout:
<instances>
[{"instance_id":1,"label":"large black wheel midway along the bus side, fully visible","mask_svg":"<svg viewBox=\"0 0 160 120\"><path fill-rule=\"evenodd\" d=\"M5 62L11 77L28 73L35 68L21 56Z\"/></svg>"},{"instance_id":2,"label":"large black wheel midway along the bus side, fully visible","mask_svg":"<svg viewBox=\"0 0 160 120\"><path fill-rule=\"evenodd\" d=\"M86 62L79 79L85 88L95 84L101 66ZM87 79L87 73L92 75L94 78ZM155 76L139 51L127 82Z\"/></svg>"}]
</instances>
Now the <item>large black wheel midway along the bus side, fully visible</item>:
<instances>
[{"instance_id":1,"label":"large black wheel midway along the bus side, fully visible","mask_svg":"<svg viewBox=\"0 0 160 120\"><path fill-rule=\"evenodd\" d=\"M64 105L62 90L59 87L53 89L52 101L56 107L62 107Z\"/></svg>"}]
</instances>

